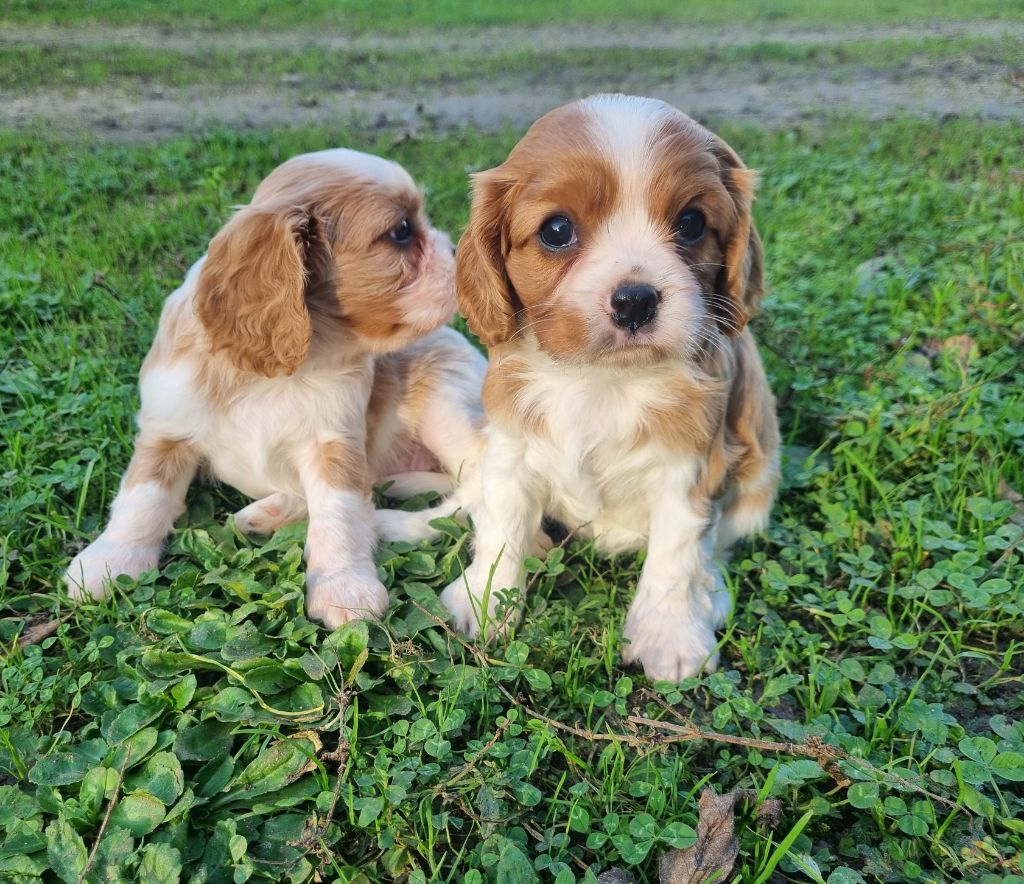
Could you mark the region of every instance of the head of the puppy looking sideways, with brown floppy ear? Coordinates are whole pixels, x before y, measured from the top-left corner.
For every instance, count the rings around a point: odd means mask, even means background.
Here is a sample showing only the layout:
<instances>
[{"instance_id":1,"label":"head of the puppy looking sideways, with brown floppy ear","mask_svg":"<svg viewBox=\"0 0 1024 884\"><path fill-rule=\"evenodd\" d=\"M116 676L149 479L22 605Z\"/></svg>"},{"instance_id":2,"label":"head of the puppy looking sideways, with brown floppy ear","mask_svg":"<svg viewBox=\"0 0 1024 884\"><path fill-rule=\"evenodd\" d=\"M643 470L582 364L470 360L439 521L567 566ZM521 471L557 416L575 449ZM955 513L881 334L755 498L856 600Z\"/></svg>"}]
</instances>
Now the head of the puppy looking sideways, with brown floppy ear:
<instances>
[{"instance_id":1,"label":"head of the puppy looking sideways, with brown floppy ear","mask_svg":"<svg viewBox=\"0 0 1024 884\"><path fill-rule=\"evenodd\" d=\"M196 306L214 350L266 376L295 371L330 329L395 349L452 319L452 243L430 227L397 164L346 150L304 154L214 237Z\"/></svg>"}]
</instances>

